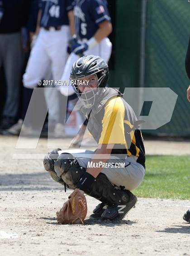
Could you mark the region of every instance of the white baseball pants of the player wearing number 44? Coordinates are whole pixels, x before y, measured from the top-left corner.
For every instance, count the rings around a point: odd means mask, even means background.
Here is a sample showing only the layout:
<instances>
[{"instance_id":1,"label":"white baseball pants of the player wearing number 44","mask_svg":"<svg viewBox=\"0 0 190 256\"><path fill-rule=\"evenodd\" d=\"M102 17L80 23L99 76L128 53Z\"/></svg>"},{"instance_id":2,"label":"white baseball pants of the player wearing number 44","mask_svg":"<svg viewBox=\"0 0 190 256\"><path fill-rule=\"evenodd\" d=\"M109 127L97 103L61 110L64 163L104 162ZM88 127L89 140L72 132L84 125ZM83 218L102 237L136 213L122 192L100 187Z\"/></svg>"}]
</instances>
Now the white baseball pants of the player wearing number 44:
<instances>
[{"instance_id":1,"label":"white baseball pants of the player wearing number 44","mask_svg":"<svg viewBox=\"0 0 190 256\"><path fill-rule=\"evenodd\" d=\"M68 57L67 45L70 37L70 29L67 25L63 25L61 30L40 29L23 75L24 87L36 87L38 80L44 78L49 66L53 80L61 79Z\"/></svg>"}]
</instances>

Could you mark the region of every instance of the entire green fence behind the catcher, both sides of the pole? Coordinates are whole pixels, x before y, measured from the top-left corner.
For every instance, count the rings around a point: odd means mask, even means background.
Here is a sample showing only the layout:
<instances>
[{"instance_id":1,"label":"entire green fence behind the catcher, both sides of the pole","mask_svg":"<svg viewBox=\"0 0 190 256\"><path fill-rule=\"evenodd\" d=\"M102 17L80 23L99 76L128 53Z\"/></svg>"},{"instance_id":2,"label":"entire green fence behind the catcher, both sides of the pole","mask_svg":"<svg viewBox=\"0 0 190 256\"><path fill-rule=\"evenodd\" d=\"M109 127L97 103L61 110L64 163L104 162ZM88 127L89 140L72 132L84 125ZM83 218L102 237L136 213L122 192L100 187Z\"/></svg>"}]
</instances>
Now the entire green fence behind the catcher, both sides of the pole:
<instances>
[{"instance_id":1,"label":"entire green fence behind the catcher, both sides of the pole","mask_svg":"<svg viewBox=\"0 0 190 256\"><path fill-rule=\"evenodd\" d=\"M171 88L178 95L171 121L157 130L144 132L190 136L190 104L186 100L190 81L185 73L190 3L187 0L117 0L116 10L116 63L110 85Z\"/></svg>"}]
</instances>

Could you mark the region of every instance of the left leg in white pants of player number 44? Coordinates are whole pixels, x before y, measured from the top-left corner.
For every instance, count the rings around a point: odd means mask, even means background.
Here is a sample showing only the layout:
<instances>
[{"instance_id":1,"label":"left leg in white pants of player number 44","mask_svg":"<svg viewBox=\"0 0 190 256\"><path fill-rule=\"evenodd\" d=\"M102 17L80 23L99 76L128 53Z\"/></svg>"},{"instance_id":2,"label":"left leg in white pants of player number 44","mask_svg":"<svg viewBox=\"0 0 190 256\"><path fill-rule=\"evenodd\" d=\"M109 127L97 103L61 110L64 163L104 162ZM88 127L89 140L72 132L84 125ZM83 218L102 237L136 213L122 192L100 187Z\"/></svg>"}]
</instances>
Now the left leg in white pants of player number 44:
<instances>
[{"instance_id":1,"label":"left leg in white pants of player number 44","mask_svg":"<svg viewBox=\"0 0 190 256\"><path fill-rule=\"evenodd\" d=\"M36 43L30 53L26 71L23 75L23 83L25 87L36 87L38 80L44 78L47 67L50 65L50 59L44 49L44 33L45 31L40 31Z\"/></svg>"}]
</instances>

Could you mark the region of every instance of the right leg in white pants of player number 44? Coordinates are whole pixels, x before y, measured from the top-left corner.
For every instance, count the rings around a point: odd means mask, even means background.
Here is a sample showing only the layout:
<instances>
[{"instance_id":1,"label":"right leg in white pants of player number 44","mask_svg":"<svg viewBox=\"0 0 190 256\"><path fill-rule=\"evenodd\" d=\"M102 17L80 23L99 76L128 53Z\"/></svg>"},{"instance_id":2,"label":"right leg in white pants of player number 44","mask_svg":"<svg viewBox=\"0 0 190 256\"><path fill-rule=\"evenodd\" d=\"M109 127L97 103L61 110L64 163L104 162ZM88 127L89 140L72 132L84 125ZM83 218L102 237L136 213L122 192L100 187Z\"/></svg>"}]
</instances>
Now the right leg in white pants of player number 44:
<instances>
[{"instance_id":1,"label":"right leg in white pants of player number 44","mask_svg":"<svg viewBox=\"0 0 190 256\"><path fill-rule=\"evenodd\" d=\"M48 31L47 35L47 44L45 47L52 63L52 79L61 80L62 73L68 57L66 48L70 36L69 27L62 26L61 30ZM47 90L45 92L45 98L49 113L48 127L53 128L54 126L54 130L52 131L52 133L49 133L49 135L52 134L52 136L62 138L65 136L65 127L61 123L61 97L62 95L60 95L60 90L58 88L50 88L50 90ZM64 117L62 119L65 120Z\"/></svg>"}]
</instances>

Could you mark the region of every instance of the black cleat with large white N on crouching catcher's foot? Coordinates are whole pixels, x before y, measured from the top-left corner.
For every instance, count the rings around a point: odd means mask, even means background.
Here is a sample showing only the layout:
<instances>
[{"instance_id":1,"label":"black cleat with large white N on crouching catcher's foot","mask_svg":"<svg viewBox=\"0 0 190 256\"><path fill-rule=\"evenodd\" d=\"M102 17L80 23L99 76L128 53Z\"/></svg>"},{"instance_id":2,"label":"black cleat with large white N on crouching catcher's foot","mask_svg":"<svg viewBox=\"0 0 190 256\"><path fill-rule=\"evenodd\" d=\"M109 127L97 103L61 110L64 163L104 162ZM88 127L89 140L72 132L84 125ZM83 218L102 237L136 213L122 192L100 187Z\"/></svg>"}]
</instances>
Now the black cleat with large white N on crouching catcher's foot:
<instances>
[{"instance_id":1,"label":"black cleat with large white N on crouching catcher's foot","mask_svg":"<svg viewBox=\"0 0 190 256\"><path fill-rule=\"evenodd\" d=\"M126 191L128 194L128 201L126 202L123 200L121 204L115 206L109 206L107 209L102 213L101 217L108 220L122 220L128 212L135 208L137 203L137 197L133 195L130 191Z\"/></svg>"}]
</instances>

